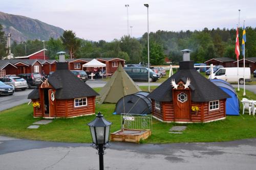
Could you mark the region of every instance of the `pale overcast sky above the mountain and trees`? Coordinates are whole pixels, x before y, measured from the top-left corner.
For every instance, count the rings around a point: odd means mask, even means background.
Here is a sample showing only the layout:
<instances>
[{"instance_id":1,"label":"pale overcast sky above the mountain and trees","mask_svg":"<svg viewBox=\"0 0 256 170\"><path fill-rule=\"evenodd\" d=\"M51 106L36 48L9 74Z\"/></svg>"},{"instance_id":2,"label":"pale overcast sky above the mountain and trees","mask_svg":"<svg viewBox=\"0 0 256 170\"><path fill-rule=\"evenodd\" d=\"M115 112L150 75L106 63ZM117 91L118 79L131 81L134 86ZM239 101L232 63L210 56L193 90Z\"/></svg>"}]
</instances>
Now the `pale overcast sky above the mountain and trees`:
<instances>
[{"instance_id":1,"label":"pale overcast sky above the mountain and trees","mask_svg":"<svg viewBox=\"0 0 256 170\"><path fill-rule=\"evenodd\" d=\"M112 41L129 33L141 37L147 31L149 4L150 32L212 28L236 28L238 9L240 24L256 27L255 0L0 0L0 11L39 19L80 38Z\"/></svg>"}]
</instances>

